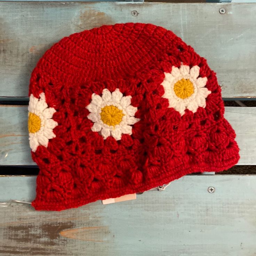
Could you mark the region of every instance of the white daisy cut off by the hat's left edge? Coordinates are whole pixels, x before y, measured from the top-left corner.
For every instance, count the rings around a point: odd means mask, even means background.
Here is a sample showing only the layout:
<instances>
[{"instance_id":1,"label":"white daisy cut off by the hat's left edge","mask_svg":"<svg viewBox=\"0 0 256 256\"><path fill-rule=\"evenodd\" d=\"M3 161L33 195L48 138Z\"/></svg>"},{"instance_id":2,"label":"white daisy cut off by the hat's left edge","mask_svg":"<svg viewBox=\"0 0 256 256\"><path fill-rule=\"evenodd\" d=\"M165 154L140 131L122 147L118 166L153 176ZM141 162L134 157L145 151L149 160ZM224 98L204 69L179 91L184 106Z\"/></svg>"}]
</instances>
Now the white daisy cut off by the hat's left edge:
<instances>
[{"instance_id":1,"label":"white daisy cut off by the hat's left edge","mask_svg":"<svg viewBox=\"0 0 256 256\"><path fill-rule=\"evenodd\" d=\"M37 150L39 145L48 146L49 139L56 137L53 129L58 125L52 119L56 110L53 107L48 107L45 94L41 93L39 98L34 97L33 94L29 97L27 125L29 128L29 144L33 152Z\"/></svg>"}]
</instances>

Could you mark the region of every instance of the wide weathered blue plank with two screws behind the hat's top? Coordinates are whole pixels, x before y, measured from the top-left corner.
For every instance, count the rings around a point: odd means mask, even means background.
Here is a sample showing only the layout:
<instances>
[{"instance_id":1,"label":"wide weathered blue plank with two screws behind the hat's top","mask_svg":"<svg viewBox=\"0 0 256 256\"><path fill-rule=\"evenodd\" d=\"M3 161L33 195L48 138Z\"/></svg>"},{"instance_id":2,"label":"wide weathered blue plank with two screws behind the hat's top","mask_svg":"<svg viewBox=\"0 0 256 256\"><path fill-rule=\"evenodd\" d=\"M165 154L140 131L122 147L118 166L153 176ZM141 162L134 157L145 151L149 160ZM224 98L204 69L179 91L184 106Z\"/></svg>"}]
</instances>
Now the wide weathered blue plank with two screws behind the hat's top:
<instances>
[{"instance_id":1,"label":"wide weathered blue plank with two screws behind the hat's top","mask_svg":"<svg viewBox=\"0 0 256 256\"><path fill-rule=\"evenodd\" d=\"M208 59L224 98L256 97L255 13L253 3L0 2L0 97L27 96L33 67L64 36L122 22L174 31Z\"/></svg>"}]
</instances>

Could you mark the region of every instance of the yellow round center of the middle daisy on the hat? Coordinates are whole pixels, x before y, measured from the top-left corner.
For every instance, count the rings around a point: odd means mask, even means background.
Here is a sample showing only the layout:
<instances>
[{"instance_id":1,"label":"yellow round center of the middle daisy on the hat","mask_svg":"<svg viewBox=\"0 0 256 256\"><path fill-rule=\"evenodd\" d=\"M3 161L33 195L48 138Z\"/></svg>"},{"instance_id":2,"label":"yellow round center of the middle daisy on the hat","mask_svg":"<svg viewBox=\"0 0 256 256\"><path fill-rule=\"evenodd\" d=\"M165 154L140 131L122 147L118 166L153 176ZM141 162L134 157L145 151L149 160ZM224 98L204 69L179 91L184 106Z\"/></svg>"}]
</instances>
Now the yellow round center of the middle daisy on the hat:
<instances>
[{"instance_id":1,"label":"yellow round center of the middle daisy on the hat","mask_svg":"<svg viewBox=\"0 0 256 256\"><path fill-rule=\"evenodd\" d=\"M110 105L101 109L101 120L108 126L118 125L122 121L123 111Z\"/></svg>"}]
</instances>

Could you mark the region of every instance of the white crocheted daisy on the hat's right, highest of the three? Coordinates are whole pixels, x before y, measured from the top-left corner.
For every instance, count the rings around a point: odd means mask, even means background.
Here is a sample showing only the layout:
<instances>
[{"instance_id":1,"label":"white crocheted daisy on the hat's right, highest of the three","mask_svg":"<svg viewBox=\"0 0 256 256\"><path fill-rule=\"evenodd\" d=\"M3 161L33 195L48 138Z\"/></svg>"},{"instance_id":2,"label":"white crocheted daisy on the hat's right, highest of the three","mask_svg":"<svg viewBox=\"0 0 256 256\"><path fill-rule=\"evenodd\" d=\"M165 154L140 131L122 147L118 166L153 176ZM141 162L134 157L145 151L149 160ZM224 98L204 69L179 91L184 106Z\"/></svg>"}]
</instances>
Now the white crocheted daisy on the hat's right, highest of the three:
<instances>
[{"instance_id":1,"label":"white crocheted daisy on the hat's right, highest of the three","mask_svg":"<svg viewBox=\"0 0 256 256\"><path fill-rule=\"evenodd\" d=\"M169 107L173 107L181 115L185 109L195 113L198 107L206 107L206 98L211 93L205 86L207 77L199 77L199 66L191 69L187 65L179 68L172 66L171 73L165 73L165 79L161 83L165 89L163 98L169 100Z\"/></svg>"}]
</instances>

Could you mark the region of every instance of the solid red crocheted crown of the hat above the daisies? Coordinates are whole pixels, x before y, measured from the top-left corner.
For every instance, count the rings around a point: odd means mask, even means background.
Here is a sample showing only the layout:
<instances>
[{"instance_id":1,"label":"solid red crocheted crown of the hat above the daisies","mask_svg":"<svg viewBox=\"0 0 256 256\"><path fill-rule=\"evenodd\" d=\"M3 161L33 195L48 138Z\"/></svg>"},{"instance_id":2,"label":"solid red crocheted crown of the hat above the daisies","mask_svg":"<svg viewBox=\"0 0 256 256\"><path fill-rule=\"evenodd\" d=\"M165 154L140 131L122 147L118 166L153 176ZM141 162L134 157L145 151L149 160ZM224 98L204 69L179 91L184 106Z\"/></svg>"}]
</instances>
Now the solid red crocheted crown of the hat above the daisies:
<instances>
[{"instance_id":1,"label":"solid red crocheted crown of the hat above the daisies","mask_svg":"<svg viewBox=\"0 0 256 256\"><path fill-rule=\"evenodd\" d=\"M41 73L51 83L133 77L154 64L174 38L182 42L163 27L142 23L104 25L75 33L46 51L31 81Z\"/></svg>"}]
</instances>

